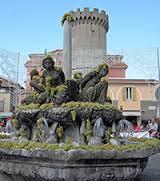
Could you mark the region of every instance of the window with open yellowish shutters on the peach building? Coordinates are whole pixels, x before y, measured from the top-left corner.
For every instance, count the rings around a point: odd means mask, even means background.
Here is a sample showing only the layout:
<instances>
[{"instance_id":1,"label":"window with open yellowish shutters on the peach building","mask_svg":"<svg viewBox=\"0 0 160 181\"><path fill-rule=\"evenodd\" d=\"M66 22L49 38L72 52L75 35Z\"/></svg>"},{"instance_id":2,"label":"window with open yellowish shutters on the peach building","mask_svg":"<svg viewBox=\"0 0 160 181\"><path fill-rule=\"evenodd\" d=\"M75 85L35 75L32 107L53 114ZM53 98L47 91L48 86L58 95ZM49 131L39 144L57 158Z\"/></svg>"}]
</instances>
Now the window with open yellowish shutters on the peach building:
<instances>
[{"instance_id":1,"label":"window with open yellowish shutters on the peach building","mask_svg":"<svg viewBox=\"0 0 160 181\"><path fill-rule=\"evenodd\" d=\"M122 88L122 100L136 100L136 88L135 87L123 87Z\"/></svg>"}]
</instances>

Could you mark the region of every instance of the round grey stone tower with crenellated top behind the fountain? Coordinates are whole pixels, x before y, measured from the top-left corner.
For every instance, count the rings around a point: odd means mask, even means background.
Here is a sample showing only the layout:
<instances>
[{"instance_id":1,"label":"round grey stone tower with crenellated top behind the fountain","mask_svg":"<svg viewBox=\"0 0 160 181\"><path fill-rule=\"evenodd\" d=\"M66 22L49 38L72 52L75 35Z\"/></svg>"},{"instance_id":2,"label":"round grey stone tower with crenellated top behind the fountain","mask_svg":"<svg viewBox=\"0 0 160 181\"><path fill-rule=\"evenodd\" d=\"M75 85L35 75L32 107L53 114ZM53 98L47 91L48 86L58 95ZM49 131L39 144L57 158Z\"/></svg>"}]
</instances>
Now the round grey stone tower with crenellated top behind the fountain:
<instances>
[{"instance_id":1,"label":"round grey stone tower with crenellated top behind the fountain","mask_svg":"<svg viewBox=\"0 0 160 181\"><path fill-rule=\"evenodd\" d=\"M106 58L108 15L94 8L70 11L72 22L72 70L87 73Z\"/></svg>"}]
</instances>

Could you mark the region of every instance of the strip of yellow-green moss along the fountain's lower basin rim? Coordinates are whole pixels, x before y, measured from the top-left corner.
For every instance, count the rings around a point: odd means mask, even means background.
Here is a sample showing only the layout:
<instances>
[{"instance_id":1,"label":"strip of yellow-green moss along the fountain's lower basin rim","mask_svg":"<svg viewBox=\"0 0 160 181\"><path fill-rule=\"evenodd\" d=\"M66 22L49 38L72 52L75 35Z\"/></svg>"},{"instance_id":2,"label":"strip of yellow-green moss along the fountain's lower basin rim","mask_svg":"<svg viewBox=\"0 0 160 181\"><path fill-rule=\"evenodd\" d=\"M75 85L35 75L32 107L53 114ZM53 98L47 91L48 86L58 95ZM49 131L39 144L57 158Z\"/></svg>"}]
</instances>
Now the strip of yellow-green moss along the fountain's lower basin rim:
<instances>
[{"instance_id":1,"label":"strip of yellow-green moss along the fountain's lower basin rim","mask_svg":"<svg viewBox=\"0 0 160 181\"><path fill-rule=\"evenodd\" d=\"M28 142L28 143L18 143L18 142L0 142L0 148L5 149L26 149L26 150L57 150L57 149L64 149L66 151L71 149L81 149L81 150L117 150L117 151L133 151L133 150L143 150L146 148L160 148L160 140L155 138L147 138L147 139L134 139L138 143L141 144L130 144L125 146L114 146L111 144L104 144L104 145L80 145L80 146L73 146L72 139L67 139L64 146L59 147L58 144L47 144L47 143L38 143L38 142Z\"/></svg>"}]
</instances>

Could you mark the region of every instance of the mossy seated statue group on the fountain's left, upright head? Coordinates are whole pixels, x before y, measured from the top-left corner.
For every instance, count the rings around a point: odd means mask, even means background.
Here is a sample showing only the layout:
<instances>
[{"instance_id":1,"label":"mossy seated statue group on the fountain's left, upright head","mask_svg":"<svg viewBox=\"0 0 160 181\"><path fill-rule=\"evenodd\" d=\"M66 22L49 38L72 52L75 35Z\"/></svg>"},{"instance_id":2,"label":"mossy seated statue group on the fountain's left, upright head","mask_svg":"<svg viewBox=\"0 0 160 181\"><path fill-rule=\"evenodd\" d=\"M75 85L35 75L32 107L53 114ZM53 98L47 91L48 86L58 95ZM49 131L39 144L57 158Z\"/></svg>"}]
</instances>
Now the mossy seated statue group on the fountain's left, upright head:
<instances>
[{"instance_id":1,"label":"mossy seated statue group on the fountain's left, upright head","mask_svg":"<svg viewBox=\"0 0 160 181\"><path fill-rule=\"evenodd\" d=\"M64 73L60 67L54 65L52 57L46 55L42 61L44 68L42 75L36 69L30 72L30 85L34 91L22 101L22 104L38 103L41 105L53 102L59 105L69 101Z\"/></svg>"}]
</instances>

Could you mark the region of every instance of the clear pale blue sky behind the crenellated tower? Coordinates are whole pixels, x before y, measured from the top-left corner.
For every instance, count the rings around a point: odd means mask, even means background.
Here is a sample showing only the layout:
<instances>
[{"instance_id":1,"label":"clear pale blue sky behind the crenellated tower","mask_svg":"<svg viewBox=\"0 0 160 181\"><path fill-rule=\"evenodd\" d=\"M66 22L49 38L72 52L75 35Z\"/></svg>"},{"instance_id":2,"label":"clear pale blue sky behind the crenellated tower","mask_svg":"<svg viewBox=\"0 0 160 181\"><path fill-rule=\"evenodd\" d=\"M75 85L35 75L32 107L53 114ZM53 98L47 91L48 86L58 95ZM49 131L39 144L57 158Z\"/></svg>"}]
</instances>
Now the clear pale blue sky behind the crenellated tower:
<instances>
[{"instance_id":1,"label":"clear pale blue sky behind the crenellated tower","mask_svg":"<svg viewBox=\"0 0 160 181\"><path fill-rule=\"evenodd\" d=\"M155 72L155 48L160 47L159 0L0 0L0 48L20 52L22 69L28 54L62 48L62 16L84 7L109 15L109 53L123 53L129 66L139 69L145 65Z\"/></svg>"}]
</instances>

